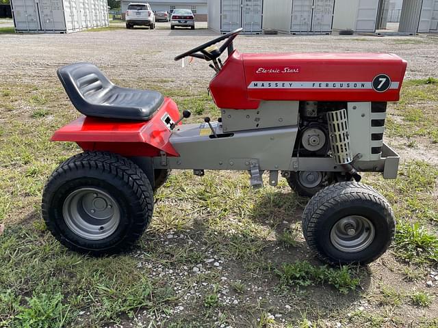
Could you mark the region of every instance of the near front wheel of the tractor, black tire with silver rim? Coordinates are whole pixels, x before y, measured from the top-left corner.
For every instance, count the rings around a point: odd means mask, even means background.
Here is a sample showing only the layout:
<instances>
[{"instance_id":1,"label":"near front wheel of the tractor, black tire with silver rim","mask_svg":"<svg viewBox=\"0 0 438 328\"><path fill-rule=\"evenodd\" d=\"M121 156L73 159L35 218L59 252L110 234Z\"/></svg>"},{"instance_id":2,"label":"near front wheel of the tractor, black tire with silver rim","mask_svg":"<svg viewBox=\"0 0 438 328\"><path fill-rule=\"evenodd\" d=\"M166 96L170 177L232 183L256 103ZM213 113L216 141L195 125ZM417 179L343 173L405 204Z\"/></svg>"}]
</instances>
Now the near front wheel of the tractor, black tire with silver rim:
<instances>
[{"instance_id":1,"label":"near front wheel of the tractor, black tire with silver rim","mask_svg":"<svg viewBox=\"0 0 438 328\"><path fill-rule=\"evenodd\" d=\"M368 264L394 239L396 221L385 197L365 184L339 182L314 195L302 214L302 232L326 263Z\"/></svg>"}]
</instances>

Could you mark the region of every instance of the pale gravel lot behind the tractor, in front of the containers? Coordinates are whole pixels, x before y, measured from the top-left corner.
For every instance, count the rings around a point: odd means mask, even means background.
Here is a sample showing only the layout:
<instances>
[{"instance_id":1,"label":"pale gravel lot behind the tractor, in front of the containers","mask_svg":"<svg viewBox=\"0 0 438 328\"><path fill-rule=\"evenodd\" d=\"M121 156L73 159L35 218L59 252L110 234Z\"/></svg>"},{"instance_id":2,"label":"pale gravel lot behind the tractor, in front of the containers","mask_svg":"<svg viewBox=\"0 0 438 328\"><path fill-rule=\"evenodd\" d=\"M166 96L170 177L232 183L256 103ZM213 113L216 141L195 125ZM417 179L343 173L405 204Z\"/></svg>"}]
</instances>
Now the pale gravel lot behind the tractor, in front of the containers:
<instances>
[{"instance_id":1,"label":"pale gravel lot behind the tractor, in front of the containers","mask_svg":"<svg viewBox=\"0 0 438 328\"><path fill-rule=\"evenodd\" d=\"M205 25L205 23L204 23ZM159 28L83 31L70 34L0 35L3 83L35 83L57 80L56 68L90 61L111 79L124 85L168 79L168 87L207 87L214 74L199 59L181 68L173 58L218 36L208 29L171 31ZM203 26L203 25L199 25ZM235 48L242 53L268 52L378 52L396 53L409 63L408 78L438 75L438 38L374 36L239 36Z\"/></svg>"}]
</instances>

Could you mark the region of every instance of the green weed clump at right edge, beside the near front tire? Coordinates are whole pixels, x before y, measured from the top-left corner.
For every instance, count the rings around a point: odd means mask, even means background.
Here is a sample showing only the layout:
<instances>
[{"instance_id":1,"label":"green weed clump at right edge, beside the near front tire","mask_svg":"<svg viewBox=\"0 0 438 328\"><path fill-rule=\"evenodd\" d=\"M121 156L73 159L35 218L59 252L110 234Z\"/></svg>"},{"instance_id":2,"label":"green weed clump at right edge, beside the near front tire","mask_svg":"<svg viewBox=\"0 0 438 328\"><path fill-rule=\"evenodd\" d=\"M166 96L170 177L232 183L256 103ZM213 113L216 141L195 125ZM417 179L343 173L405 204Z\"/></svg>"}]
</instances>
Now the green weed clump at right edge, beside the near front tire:
<instances>
[{"instance_id":1,"label":"green weed clump at right edge, beside the near front tire","mask_svg":"<svg viewBox=\"0 0 438 328\"><path fill-rule=\"evenodd\" d=\"M438 261L438 237L420 223L400 222L394 248L402 260L413 263Z\"/></svg>"}]
</instances>

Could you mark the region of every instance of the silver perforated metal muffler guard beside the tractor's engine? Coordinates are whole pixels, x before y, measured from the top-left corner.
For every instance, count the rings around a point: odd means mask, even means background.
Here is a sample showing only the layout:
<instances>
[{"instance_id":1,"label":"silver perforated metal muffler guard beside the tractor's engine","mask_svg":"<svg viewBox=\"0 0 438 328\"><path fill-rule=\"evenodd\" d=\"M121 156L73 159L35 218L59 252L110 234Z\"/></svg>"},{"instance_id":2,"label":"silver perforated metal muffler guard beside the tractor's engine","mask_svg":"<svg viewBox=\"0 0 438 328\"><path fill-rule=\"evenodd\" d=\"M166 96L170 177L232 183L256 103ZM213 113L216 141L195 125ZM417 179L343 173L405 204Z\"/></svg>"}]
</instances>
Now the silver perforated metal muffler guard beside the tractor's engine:
<instances>
[{"instance_id":1,"label":"silver perforated metal muffler guard beside the tractor's engine","mask_svg":"<svg viewBox=\"0 0 438 328\"><path fill-rule=\"evenodd\" d=\"M327 112L327 122L329 123L330 147L335 163L339 165L351 163L346 109Z\"/></svg>"}]
</instances>

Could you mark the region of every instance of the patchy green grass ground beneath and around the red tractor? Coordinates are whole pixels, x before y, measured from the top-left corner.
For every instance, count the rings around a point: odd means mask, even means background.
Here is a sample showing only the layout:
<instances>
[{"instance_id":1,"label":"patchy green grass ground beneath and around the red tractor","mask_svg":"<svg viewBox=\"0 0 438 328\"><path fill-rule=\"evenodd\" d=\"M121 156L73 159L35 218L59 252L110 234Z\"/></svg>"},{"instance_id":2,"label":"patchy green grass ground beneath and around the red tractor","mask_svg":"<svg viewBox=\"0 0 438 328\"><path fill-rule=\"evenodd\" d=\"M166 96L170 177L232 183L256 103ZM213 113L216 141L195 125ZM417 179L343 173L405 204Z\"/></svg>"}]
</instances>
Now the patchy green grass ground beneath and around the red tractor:
<instances>
[{"instance_id":1,"label":"patchy green grass ground beneath and around the red tractor","mask_svg":"<svg viewBox=\"0 0 438 328\"><path fill-rule=\"evenodd\" d=\"M435 82L405 83L390 136L437 142ZM147 87L191 109L189 122L219 116L204 92ZM49 138L78 113L44 85L1 85L0 111L0 327L438 327L437 288L426 287L438 264L437 166L404 159L397 180L365 174L398 220L390 251L365 268L323 266L300 232L307 200L285 180L253 190L246 172L172 172L138 245L92 258L40 218L44 182L80 151Z\"/></svg>"}]
</instances>

